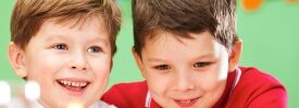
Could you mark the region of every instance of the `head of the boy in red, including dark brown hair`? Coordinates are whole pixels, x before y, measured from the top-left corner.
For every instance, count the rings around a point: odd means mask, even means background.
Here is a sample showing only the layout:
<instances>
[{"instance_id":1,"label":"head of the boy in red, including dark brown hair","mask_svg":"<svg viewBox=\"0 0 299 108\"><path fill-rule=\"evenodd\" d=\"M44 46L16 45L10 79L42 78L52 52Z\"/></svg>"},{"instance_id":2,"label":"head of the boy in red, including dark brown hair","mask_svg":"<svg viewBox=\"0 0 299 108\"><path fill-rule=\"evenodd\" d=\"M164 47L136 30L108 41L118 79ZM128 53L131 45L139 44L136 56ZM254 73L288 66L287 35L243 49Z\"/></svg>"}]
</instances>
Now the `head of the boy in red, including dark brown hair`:
<instances>
[{"instance_id":1,"label":"head of the boy in red, including dark brown hair","mask_svg":"<svg viewBox=\"0 0 299 108\"><path fill-rule=\"evenodd\" d=\"M241 42L235 0L133 0L134 56L162 107L211 107Z\"/></svg>"}]
</instances>

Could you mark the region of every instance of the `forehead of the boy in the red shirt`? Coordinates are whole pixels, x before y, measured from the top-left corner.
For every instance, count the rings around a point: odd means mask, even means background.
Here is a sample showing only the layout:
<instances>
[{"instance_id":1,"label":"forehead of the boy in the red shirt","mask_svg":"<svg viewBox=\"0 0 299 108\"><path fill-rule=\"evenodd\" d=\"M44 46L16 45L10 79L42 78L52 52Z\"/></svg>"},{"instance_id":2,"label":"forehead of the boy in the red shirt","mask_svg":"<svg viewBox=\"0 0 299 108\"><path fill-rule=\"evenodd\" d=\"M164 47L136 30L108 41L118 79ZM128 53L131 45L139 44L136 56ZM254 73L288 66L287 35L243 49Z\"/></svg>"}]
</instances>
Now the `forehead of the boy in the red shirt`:
<instances>
[{"instance_id":1,"label":"forehead of the boy in the red shirt","mask_svg":"<svg viewBox=\"0 0 299 108\"><path fill-rule=\"evenodd\" d=\"M189 33L190 38L160 33L153 39L148 39L141 51L142 56L179 57L179 56L205 56L215 55L225 51L209 31Z\"/></svg>"}]
</instances>

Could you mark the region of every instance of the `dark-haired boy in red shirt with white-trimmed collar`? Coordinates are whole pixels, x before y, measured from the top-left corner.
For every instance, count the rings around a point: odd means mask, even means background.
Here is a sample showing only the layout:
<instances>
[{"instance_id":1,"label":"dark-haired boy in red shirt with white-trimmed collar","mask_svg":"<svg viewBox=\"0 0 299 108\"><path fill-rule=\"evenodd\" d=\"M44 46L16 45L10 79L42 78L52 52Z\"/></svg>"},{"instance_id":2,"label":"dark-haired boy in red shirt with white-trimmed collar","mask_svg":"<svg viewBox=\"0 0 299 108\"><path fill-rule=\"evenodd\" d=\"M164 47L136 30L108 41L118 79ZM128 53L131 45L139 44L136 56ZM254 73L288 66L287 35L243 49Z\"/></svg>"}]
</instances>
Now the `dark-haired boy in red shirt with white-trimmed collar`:
<instances>
[{"instance_id":1,"label":"dark-haired boy in red shirt with white-trimmed collar","mask_svg":"<svg viewBox=\"0 0 299 108\"><path fill-rule=\"evenodd\" d=\"M133 0L133 54L144 82L114 85L121 108L285 108L284 85L239 67L235 0Z\"/></svg>"}]
</instances>

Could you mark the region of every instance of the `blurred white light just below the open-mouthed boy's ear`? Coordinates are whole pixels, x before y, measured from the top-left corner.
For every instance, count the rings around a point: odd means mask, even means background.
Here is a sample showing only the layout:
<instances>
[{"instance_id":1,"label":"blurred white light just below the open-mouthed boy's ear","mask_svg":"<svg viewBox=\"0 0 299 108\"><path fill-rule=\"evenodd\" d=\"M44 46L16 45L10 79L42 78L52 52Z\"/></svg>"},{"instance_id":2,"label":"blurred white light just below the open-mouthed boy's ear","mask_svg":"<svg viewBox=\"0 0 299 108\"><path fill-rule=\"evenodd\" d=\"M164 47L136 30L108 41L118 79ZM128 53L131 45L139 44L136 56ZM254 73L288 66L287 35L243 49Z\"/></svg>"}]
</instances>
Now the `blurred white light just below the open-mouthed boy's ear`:
<instances>
[{"instance_id":1,"label":"blurred white light just below the open-mouthed boy's ear","mask_svg":"<svg viewBox=\"0 0 299 108\"><path fill-rule=\"evenodd\" d=\"M25 96L28 100L37 100L40 96L40 86L35 81L27 81L25 85Z\"/></svg>"}]
</instances>

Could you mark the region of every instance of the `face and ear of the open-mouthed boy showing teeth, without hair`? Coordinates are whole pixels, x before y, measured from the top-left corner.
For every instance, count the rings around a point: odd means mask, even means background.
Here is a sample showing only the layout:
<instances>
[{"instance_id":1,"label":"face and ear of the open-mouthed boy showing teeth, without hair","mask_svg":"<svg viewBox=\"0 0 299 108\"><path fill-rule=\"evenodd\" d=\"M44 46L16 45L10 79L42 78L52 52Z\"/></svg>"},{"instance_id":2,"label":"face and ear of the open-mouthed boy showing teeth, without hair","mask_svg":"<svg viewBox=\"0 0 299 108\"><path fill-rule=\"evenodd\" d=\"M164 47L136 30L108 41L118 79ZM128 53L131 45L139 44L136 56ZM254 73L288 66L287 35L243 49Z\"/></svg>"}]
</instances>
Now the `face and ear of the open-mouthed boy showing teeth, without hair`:
<instances>
[{"instance_id":1,"label":"face and ear of the open-mouthed boy showing teeth, without hair","mask_svg":"<svg viewBox=\"0 0 299 108\"><path fill-rule=\"evenodd\" d=\"M112 54L103 22L92 16L74 23L47 19L21 53L27 80L40 84L45 107L89 106L107 86Z\"/></svg>"}]
</instances>

